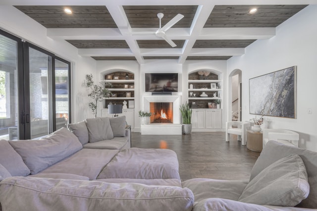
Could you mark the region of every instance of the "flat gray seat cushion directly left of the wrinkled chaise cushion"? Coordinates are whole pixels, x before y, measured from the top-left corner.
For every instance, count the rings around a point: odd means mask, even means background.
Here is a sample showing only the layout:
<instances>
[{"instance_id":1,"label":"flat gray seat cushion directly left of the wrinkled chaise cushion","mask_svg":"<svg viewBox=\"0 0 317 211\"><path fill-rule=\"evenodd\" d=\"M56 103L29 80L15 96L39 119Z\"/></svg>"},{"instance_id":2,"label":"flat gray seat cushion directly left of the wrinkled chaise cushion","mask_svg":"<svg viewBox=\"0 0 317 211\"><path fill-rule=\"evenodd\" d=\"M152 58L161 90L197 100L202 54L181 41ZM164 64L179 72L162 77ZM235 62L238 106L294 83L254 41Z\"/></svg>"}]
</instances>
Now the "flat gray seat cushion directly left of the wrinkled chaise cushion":
<instances>
[{"instance_id":1,"label":"flat gray seat cushion directly left of the wrinkled chaise cushion","mask_svg":"<svg viewBox=\"0 0 317 211\"><path fill-rule=\"evenodd\" d=\"M41 173L69 173L96 179L100 171L118 153L118 150L82 149L43 170Z\"/></svg>"}]
</instances>

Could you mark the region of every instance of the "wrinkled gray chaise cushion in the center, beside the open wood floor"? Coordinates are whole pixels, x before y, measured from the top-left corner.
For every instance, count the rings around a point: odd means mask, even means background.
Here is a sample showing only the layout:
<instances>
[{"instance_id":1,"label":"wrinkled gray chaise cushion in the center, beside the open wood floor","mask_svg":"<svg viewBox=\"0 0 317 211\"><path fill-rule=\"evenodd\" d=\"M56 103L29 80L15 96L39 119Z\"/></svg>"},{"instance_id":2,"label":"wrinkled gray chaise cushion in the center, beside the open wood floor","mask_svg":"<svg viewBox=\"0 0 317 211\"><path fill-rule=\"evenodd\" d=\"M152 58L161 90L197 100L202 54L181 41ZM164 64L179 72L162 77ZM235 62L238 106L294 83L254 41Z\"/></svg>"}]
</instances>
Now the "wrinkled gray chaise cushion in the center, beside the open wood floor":
<instances>
[{"instance_id":1,"label":"wrinkled gray chaise cushion in the center, beside the open wood floor","mask_svg":"<svg viewBox=\"0 0 317 211\"><path fill-rule=\"evenodd\" d=\"M180 179L176 153L167 149L130 148L119 152L98 179Z\"/></svg>"}]
</instances>

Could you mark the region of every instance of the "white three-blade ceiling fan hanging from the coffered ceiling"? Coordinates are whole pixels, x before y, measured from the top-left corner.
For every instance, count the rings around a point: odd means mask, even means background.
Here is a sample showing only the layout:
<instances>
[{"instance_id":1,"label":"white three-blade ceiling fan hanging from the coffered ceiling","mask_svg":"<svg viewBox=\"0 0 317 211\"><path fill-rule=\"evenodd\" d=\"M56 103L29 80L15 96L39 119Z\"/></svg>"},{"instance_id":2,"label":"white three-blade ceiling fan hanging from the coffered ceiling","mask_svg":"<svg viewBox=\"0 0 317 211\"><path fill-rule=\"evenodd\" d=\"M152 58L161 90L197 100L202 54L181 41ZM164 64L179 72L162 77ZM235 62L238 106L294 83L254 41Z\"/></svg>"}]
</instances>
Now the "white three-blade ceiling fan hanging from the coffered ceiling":
<instances>
[{"instance_id":1,"label":"white three-blade ceiling fan hanging from the coffered ceiling","mask_svg":"<svg viewBox=\"0 0 317 211\"><path fill-rule=\"evenodd\" d=\"M175 17L173 17L168 23L166 23L163 27L161 27L161 19L164 16L163 13L158 13L158 18L159 18L159 29L156 32L132 32L132 34L155 34L158 37L163 38L172 48L176 47L176 44L169 39L165 32L174 26L178 21L180 21L184 15L182 14L177 14Z\"/></svg>"}]
</instances>

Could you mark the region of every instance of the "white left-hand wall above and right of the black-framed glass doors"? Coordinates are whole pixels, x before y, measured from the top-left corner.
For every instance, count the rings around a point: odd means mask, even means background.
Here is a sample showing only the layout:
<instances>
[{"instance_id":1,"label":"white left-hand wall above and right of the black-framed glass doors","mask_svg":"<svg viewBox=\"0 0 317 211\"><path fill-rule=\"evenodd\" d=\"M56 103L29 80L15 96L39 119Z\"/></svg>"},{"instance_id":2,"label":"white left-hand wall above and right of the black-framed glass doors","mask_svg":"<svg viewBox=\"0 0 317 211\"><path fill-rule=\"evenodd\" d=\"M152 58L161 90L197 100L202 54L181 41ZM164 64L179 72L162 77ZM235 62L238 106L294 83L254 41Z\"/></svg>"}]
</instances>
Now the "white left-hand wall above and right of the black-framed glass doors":
<instances>
[{"instance_id":1,"label":"white left-hand wall above and right of the black-framed glass doors","mask_svg":"<svg viewBox=\"0 0 317 211\"><path fill-rule=\"evenodd\" d=\"M85 75L96 76L96 61L91 57L81 57L78 50L66 41L47 37L47 30L13 6L0 6L0 28L21 39L33 43L72 64L72 122L92 116L88 108L86 88L82 86Z\"/></svg>"}]
</instances>

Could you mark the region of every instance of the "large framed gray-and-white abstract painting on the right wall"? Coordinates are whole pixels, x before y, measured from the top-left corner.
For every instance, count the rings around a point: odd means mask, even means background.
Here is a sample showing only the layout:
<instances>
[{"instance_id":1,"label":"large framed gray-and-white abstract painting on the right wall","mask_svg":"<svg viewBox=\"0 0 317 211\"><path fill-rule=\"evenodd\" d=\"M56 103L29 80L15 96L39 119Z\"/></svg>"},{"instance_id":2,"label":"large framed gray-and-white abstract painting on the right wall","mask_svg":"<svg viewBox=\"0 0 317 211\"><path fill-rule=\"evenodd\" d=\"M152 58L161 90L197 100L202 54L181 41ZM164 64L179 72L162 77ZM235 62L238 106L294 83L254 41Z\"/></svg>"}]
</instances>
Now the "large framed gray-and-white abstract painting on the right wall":
<instances>
[{"instance_id":1,"label":"large framed gray-and-white abstract painting on the right wall","mask_svg":"<svg viewBox=\"0 0 317 211\"><path fill-rule=\"evenodd\" d=\"M249 79L250 114L296 118L296 66Z\"/></svg>"}]
</instances>

